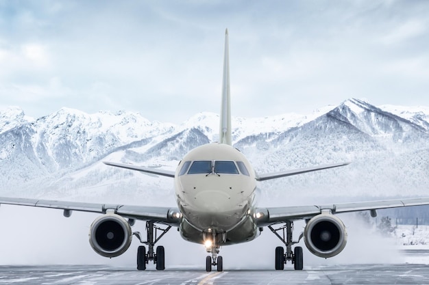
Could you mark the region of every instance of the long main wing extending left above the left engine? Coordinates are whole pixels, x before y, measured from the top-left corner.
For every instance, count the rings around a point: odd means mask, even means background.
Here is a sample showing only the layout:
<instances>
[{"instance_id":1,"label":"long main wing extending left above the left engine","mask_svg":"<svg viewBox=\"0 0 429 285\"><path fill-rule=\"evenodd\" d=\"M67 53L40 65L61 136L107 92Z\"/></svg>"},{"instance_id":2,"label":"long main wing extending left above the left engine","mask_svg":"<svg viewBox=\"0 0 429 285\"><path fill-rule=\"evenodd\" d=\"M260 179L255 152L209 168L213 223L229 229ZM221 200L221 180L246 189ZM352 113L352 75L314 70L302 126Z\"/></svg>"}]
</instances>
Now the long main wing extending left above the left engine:
<instances>
[{"instance_id":1,"label":"long main wing extending left above the left engine","mask_svg":"<svg viewBox=\"0 0 429 285\"><path fill-rule=\"evenodd\" d=\"M66 202L56 200L38 200L26 198L4 198L0 197L0 204L10 204L19 206L33 206L41 208L56 208L64 210L64 216L69 217L71 211L81 211L90 213L102 213L114 211L114 213L125 218L139 219L147 221L158 221L167 223L171 226L178 226L178 217L180 213L178 208L156 207L156 206L131 206L122 204L97 204L84 202Z\"/></svg>"}]
</instances>

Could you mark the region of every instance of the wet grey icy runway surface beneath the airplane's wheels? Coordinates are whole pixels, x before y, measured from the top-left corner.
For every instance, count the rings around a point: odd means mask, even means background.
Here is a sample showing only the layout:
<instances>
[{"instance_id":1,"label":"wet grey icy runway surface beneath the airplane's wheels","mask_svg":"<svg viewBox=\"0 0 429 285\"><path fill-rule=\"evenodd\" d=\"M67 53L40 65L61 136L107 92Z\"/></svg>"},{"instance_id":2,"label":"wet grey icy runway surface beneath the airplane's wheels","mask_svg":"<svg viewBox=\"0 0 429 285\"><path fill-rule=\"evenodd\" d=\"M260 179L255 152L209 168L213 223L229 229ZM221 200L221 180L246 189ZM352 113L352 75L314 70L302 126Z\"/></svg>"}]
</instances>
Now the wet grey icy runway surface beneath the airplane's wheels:
<instances>
[{"instance_id":1,"label":"wet grey icy runway surface beneath the airplane's wheels","mask_svg":"<svg viewBox=\"0 0 429 285\"><path fill-rule=\"evenodd\" d=\"M429 284L422 264L358 264L304 271L223 271L170 269L136 271L102 266L0 267L0 284Z\"/></svg>"}]
</instances>

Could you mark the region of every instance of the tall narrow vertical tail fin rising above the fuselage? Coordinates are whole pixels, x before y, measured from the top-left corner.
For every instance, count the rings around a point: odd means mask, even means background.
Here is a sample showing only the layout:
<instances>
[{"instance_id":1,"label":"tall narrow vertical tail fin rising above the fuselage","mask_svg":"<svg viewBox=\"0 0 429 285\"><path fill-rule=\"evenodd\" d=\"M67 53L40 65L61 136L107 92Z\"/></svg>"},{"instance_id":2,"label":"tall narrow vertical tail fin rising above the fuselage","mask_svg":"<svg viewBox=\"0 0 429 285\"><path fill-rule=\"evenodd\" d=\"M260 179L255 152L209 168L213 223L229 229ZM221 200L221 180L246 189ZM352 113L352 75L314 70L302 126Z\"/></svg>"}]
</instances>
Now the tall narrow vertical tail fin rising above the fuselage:
<instances>
[{"instance_id":1,"label":"tall narrow vertical tail fin rising above the fuselage","mask_svg":"<svg viewBox=\"0 0 429 285\"><path fill-rule=\"evenodd\" d=\"M223 54L223 82L221 124L219 143L232 145L231 135L231 99L230 99L230 57L228 54L228 29L225 30L225 51Z\"/></svg>"}]
</instances>

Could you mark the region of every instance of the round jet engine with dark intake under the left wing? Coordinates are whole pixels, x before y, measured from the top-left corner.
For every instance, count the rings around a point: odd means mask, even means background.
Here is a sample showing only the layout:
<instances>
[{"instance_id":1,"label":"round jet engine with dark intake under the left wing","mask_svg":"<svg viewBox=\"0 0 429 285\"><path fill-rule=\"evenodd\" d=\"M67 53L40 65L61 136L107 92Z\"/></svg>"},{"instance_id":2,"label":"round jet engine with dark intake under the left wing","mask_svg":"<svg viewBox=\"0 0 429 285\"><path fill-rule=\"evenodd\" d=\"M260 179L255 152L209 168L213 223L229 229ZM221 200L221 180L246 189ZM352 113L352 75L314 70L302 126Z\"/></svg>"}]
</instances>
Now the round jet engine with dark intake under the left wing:
<instances>
[{"instance_id":1,"label":"round jet engine with dark intake under the left wing","mask_svg":"<svg viewBox=\"0 0 429 285\"><path fill-rule=\"evenodd\" d=\"M120 256L130 247L131 240L131 226L120 215L102 215L91 224L89 243L101 256Z\"/></svg>"}]
</instances>

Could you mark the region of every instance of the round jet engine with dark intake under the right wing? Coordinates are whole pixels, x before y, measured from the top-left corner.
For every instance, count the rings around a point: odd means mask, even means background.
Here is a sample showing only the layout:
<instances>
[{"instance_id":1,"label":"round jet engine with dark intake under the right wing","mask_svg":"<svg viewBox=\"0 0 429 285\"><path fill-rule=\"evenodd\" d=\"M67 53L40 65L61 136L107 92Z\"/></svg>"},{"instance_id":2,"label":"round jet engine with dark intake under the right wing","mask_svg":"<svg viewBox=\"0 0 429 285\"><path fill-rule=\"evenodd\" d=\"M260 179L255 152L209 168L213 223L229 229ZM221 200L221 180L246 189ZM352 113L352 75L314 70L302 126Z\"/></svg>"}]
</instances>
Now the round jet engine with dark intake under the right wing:
<instances>
[{"instance_id":1,"label":"round jet engine with dark intake under the right wing","mask_svg":"<svg viewBox=\"0 0 429 285\"><path fill-rule=\"evenodd\" d=\"M312 217L304 229L304 242L312 254L328 258L343 251L347 232L343 221L330 214Z\"/></svg>"}]
</instances>

